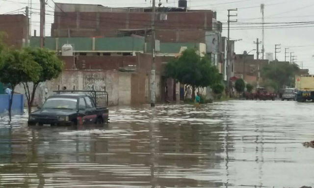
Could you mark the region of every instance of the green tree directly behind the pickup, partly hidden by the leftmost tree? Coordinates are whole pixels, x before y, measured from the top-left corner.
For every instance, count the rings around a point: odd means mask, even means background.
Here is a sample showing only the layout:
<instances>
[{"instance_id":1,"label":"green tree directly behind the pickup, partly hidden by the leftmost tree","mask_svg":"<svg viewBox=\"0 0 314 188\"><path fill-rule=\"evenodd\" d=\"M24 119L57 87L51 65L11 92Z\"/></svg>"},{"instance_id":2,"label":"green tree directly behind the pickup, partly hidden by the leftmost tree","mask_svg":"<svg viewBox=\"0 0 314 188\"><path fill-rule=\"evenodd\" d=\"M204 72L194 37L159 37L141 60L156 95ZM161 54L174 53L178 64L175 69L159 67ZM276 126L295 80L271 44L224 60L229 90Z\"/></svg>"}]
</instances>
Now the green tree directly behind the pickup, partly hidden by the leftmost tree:
<instances>
[{"instance_id":1,"label":"green tree directly behind the pickup, partly hidden by the leftmost tree","mask_svg":"<svg viewBox=\"0 0 314 188\"><path fill-rule=\"evenodd\" d=\"M39 78L37 80L31 80L31 85L29 82L22 83L27 99L28 113L30 113L39 83L57 78L62 72L63 62L54 52L45 48L25 48L25 51L32 56L34 61L41 67Z\"/></svg>"}]
</instances>

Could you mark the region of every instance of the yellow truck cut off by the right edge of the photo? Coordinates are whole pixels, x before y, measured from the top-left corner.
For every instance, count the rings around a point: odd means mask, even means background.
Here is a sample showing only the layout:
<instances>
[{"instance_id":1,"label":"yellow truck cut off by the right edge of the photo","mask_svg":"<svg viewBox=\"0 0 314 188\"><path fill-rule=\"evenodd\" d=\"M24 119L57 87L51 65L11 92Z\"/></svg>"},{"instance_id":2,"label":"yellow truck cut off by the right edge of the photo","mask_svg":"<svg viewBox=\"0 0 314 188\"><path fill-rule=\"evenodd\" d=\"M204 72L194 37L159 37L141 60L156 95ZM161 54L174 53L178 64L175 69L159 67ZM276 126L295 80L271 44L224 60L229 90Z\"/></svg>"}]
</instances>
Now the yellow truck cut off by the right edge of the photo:
<instances>
[{"instance_id":1,"label":"yellow truck cut off by the right edge of the photo","mask_svg":"<svg viewBox=\"0 0 314 188\"><path fill-rule=\"evenodd\" d=\"M301 75L295 77L295 87L297 89L296 100L314 102L314 75Z\"/></svg>"}]
</instances>

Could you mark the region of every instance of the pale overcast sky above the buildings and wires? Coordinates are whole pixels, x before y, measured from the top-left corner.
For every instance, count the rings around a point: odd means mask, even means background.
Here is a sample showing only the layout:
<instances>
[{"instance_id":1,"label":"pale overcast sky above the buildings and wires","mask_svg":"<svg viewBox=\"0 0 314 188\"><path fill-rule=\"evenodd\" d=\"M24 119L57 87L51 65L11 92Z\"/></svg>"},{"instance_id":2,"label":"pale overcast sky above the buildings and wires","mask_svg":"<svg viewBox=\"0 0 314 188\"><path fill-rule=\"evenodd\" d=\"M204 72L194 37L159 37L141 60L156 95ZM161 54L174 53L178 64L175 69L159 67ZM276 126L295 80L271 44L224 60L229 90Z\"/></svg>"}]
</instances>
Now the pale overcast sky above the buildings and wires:
<instances>
[{"instance_id":1,"label":"pale overcast sky above the buildings and wires","mask_svg":"<svg viewBox=\"0 0 314 188\"><path fill-rule=\"evenodd\" d=\"M0 14L14 11L18 13L20 8L27 6L31 0L0 0ZM54 0L55 2L86 3L86 0ZM159 0L156 0L157 2ZM177 0L161 0L163 6L177 6ZM54 3L47 1L47 13L53 14ZM88 0L88 3L102 4L105 6L150 6L150 0ZM236 53L243 53L244 50L251 51L256 48L253 41L257 38L262 40L262 29L260 25L243 25L243 23L260 23L260 4L265 4L265 25L278 25L286 28L266 28L265 29L265 52L275 51L275 44L281 44L281 53L278 54L279 61L285 60L285 47L288 52L294 52L298 64L310 69L314 73L314 0L188 0L190 9L211 9L217 12L217 20L227 23L227 9L238 8L236 25L232 25L230 38L237 41L235 44ZM32 30L39 31L39 0L32 0ZM17 11L16 11L17 10ZM20 10L25 11L25 9ZM51 11L51 12L50 12ZM50 28L53 23L53 16L46 17L46 35L50 36ZM291 23L291 22L313 22L313 23ZM291 25L289 24L291 23ZM282 26L280 26L282 25ZM288 25L288 26L287 26ZM248 28L249 26L249 28ZM253 27L251 27L253 26ZM255 27L254 27L255 26ZM288 27L288 28L287 28ZM39 33L39 32L37 32ZM227 36L227 24L224 24L223 35ZM262 46L260 46L260 49ZM256 53L252 51L250 54ZM288 57L289 59L289 57Z\"/></svg>"}]
</instances>

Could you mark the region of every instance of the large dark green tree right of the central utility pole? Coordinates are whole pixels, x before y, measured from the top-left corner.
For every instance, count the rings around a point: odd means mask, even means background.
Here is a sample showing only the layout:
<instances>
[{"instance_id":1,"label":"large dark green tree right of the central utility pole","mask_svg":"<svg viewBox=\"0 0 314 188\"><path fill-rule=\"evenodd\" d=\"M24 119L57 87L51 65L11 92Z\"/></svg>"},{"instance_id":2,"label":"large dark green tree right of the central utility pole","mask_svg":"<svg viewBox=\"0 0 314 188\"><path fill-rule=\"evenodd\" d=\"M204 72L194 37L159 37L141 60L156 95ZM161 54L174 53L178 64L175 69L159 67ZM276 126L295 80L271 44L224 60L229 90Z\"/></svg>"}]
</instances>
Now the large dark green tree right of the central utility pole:
<instances>
[{"instance_id":1,"label":"large dark green tree right of the central utility pole","mask_svg":"<svg viewBox=\"0 0 314 188\"><path fill-rule=\"evenodd\" d=\"M182 84L190 85L193 98L199 87L212 86L222 80L222 75L211 65L209 58L201 57L195 49L186 49L182 56L167 63L165 74Z\"/></svg>"}]
</instances>

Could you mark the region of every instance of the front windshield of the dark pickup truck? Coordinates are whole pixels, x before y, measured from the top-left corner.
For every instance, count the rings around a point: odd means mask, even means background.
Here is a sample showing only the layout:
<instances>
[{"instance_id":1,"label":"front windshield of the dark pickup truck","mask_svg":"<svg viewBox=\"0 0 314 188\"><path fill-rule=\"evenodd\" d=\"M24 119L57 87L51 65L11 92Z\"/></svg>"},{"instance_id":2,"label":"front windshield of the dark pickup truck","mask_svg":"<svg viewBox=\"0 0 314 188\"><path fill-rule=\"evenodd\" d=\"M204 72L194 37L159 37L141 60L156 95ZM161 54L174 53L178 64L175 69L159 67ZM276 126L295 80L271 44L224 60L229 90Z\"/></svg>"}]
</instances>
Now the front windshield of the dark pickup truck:
<instances>
[{"instance_id":1,"label":"front windshield of the dark pickup truck","mask_svg":"<svg viewBox=\"0 0 314 188\"><path fill-rule=\"evenodd\" d=\"M76 109L78 99L75 98L49 98L43 105L43 109Z\"/></svg>"}]
</instances>

